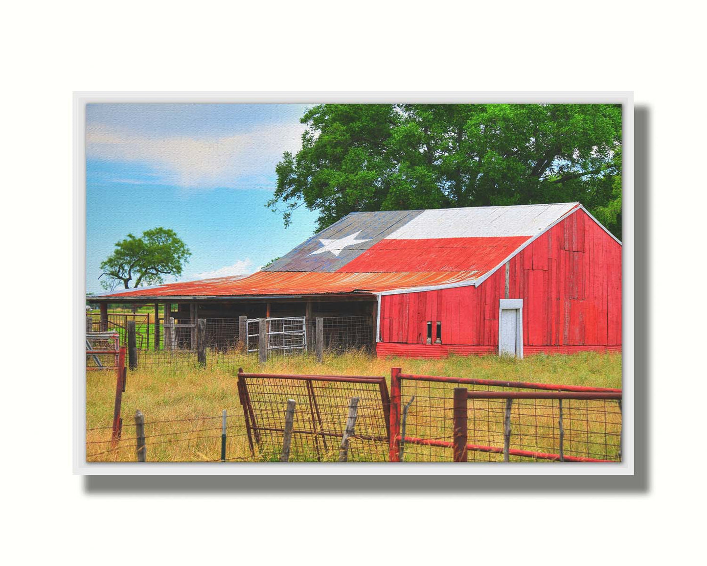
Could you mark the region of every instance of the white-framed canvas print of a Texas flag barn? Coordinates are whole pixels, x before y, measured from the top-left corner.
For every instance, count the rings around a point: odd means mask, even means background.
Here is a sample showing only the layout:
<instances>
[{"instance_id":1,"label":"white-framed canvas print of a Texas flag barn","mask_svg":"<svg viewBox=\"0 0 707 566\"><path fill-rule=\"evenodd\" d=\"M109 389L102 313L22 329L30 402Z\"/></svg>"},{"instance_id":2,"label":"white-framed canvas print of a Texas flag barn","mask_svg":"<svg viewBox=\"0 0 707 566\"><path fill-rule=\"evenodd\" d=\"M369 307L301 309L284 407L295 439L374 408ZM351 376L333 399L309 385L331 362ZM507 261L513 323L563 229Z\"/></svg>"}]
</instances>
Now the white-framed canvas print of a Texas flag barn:
<instances>
[{"instance_id":1,"label":"white-framed canvas print of a Texas flag barn","mask_svg":"<svg viewBox=\"0 0 707 566\"><path fill-rule=\"evenodd\" d=\"M76 473L633 473L631 93L74 105Z\"/></svg>"}]
</instances>

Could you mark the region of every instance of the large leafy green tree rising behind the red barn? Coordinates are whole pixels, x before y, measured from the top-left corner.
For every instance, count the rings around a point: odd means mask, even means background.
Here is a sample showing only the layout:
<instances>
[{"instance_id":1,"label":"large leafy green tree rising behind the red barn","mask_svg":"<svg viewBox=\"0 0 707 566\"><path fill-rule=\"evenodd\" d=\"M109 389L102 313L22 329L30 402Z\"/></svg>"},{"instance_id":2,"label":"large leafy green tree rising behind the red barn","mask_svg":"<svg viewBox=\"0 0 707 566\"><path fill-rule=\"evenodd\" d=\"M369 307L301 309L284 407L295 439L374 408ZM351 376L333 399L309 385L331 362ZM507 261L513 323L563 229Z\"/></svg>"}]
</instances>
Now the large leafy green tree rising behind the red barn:
<instances>
[{"instance_id":1,"label":"large leafy green tree rising behind the red barn","mask_svg":"<svg viewBox=\"0 0 707 566\"><path fill-rule=\"evenodd\" d=\"M349 212L582 202L621 238L621 107L322 104L268 206Z\"/></svg>"}]
</instances>

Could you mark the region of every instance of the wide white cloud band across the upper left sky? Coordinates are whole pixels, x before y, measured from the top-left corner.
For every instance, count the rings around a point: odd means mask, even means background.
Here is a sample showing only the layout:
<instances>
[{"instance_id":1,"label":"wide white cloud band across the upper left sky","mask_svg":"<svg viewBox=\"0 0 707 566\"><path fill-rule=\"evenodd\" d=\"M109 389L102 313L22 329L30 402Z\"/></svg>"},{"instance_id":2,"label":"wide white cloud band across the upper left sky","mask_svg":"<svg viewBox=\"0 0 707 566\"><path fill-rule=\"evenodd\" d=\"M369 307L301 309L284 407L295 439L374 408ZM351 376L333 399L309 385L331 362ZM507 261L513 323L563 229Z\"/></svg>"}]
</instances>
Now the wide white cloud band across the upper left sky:
<instances>
[{"instance_id":1,"label":"wide white cloud band across the upper left sky","mask_svg":"<svg viewBox=\"0 0 707 566\"><path fill-rule=\"evenodd\" d=\"M86 127L88 158L145 163L165 184L233 187L247 176L274 173L284 151L298 151L304 125L267 125L231 136L163 136L95 123ZM155 183L153 180L152 183Z\"/></svg>"}]
</instances>

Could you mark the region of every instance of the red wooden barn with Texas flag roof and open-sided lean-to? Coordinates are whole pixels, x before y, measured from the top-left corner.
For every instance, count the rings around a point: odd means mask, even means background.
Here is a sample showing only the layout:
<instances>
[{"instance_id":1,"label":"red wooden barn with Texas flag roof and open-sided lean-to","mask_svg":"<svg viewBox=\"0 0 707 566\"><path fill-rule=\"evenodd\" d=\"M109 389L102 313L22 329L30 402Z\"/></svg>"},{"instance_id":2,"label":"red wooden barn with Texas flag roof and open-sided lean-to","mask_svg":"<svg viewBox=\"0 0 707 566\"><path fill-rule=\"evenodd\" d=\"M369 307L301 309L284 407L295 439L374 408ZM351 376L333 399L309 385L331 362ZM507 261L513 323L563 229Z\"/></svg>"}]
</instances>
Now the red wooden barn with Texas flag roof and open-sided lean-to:
<instances>
[{"instance_id":1,"label":"red wooden barn with Texas flag roof and open-sided lean-to","mask_svg":"<svg viewBox=\"0 0 707 566\"><path fill-rule=\"evenodd\" d=\"M90 301L355 319L379 356L620 351L621 242L578 202L355 212L253 275Z\"/></svg>"}]
</instances>

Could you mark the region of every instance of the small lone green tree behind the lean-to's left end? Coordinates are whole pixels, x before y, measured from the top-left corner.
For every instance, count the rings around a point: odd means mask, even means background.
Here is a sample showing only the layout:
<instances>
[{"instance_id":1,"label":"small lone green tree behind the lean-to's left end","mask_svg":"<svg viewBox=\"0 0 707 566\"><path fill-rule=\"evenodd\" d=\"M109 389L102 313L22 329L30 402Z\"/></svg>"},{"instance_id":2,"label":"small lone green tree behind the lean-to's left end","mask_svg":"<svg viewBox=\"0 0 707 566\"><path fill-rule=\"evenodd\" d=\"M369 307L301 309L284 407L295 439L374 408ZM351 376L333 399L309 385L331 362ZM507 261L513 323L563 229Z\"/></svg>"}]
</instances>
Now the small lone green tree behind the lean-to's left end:
<instances>
[{"instance_id":1,"label":"small lone green tree behind the lean-to's left end","mask_svg":"<svg viewBox=\"0 0 707 566\"><path fill-rule=\"evenodd\" d=\"M182 267L192 253L174 230L154 228L140 238L128 234L115 244L115 250L100 264L106 276L101 282L112 291L121 283L125 289L164 282L165 275L182 275Z\"/></svg>"}]
</instances>

